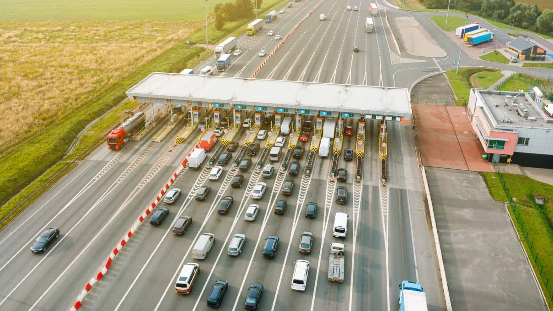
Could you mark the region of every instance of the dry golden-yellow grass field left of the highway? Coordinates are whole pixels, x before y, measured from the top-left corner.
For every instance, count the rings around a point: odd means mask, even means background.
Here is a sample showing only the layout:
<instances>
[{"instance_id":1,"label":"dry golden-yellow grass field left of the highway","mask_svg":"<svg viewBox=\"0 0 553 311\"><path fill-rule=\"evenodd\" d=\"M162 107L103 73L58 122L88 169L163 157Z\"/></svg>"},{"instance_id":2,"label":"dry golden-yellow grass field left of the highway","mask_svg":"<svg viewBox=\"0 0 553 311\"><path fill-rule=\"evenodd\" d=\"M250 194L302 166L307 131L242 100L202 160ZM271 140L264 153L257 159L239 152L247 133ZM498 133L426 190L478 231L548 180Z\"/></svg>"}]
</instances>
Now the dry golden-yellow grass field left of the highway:
<instances>
[{"instance_id":1,"label":"dry golden-yellow grass field left of the highway","mask_svg":"<svg viewBox=\"0 0 553 311\"><path fill-rule=\"evenodd\" d=\"M0 23L0 156L64 118L201 22Z\"/></svg>"}]
</instances>

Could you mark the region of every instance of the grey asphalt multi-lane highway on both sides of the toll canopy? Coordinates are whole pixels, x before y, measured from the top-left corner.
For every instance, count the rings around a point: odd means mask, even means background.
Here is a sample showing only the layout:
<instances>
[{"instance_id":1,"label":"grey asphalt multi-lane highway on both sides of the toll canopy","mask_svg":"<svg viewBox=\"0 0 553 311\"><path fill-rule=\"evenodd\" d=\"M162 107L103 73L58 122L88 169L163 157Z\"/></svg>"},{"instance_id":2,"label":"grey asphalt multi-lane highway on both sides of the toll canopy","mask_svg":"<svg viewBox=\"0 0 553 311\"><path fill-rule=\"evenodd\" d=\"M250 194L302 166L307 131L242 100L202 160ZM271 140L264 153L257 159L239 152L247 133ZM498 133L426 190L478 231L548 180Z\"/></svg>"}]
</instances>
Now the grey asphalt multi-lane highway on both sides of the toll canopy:
<instances>
[{"instance_id":1,"label":"grey asphalt multi-lane highway on both sides of the toll canopy","mask_svg":"<svg viewBox=\"0 0 553 311\"><path fill-rule=\"evenodd\" d=\"M261 33L239 38L242 55L233 60L227 71L215 74L251 76L265 60L258 56L259 50L269 53L278 44L267 32L274 29L275 34L285 35L316 3L315 0L294 2L293 8L285 8L286 13L279 14L274 23L265 24ZM359 11L346 10L348 5L358 6ZM394 67L389 49L394 43L385 22L386 12L381 10L374 18L375 32L366 33L364 18L369 16L368 5L359 0L325 0L256 78L393 86ZM319 20L321 13L326 15L324 21ZM358 46L359 52L353 52L353 46ZM214 62L214 59L207 60L200 66ZM356 129L356 122L348 119L346 125ZM184 125L181 122L161 143L152 141L159 130L154 129L143 140L128 144L120 151L109 151L105 145L98 147L2 230L0 309L69 309L194 146L199 130L184 144L174 144L176 133ZM268 129L266 125L264 129ZM329 180L330 158L317 156L314 173L309 178L302 174L263 178L254 173L252 165L243 173L245 184L241 188L229 186L232 176L242 173L230 170L232 164L225 167L218 181L207 179L206 168L186 168L174 185L183 190L181 197L173 205L160 204L170 208L169 217L157 227L148 223L149 217L146 219L113 261L107 275L91 289L82 308L206 309L211 284L226 280L229 290L223 309L242 308L249 284L260 282L265 286L261 299L263 309L392 310L398 308L398 283L417 280L425 288L429 309L445 309L411 129L389 123L388 131L386 187L381 186L379 176L377 122L367 124L362 186L354 190L355 162L340 160L338 167L348 170L348 180L343 183L349 189L345 205L333 199L335 188L342 182ZM242 144L245 137L241 129L236 141ZM308 149L310 141L299 144ZM354 149L355 144L355 136L345 136L342 150ZM253 164L259 155L260 152L252 157ZM299 160L301 172L306 161L307 152ZM284 197L280 188L288 179L295 181L295 187L290 197ZM260 200L249 197L257 182L267 182L269 186ZM198 202L191 194L202 185L210 186L212 191L206 201ZM234 198L232 209L224 215L215 211L223 196ZM273 213L275 201L280 198L288 202L284 215ZM315 219L304 217L306 202L319 204ZM253 222L243 219L249 204L260 205L259 215ZM343 283L326 280L328 244L340 241L331 234L333 213L338 211L349 215L348 235L343 239L346 245ZM171 234L171 222L180 215L190 215L193 222L186 234L175 236ZM60 238L45 253L32 254L29 250L32 240L49 226L60 228ZM314 249L308 255L297 250L302 231L315 234ZM215 234L216 241L207 258L200 261L192 259L190 253L202 233ZM226 250L236 233L246 234L247 242L241 255L231 257ZM260 254L268 235L280 237L275 259L265 259ZM294 261L298 259L306 259L311 264L305 292L294 291L289 286ZM173 288L180 267L187 262L200 263L201 272L192 293L184 296L176 294Z\"/></svg>"}]
</instances>

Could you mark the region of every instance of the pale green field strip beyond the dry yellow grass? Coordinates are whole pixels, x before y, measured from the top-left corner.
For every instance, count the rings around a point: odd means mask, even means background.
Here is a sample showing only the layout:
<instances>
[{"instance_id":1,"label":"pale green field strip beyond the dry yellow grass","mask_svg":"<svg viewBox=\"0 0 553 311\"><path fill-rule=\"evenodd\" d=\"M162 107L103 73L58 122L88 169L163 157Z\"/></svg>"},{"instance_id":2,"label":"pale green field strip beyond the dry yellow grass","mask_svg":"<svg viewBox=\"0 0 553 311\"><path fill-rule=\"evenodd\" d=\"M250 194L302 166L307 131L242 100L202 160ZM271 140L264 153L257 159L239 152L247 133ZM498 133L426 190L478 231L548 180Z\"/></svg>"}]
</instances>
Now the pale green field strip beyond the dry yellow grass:
<instances>
[{"instance_id":1,"label":"pale green field strip beyond the dry yellow grass","mask_svg":"<svg viewBox=\"0 0 553 311\"><path fill-rule=\"evenodd\" d=\"M217 3L207 2L208 12ZM75 20L195 20L205 17L205 1L152 1L152 0L49 0L0 2L0 20L52 21ZM205 20L205 19L204 19Z\"/></svg>"}]
</instances>

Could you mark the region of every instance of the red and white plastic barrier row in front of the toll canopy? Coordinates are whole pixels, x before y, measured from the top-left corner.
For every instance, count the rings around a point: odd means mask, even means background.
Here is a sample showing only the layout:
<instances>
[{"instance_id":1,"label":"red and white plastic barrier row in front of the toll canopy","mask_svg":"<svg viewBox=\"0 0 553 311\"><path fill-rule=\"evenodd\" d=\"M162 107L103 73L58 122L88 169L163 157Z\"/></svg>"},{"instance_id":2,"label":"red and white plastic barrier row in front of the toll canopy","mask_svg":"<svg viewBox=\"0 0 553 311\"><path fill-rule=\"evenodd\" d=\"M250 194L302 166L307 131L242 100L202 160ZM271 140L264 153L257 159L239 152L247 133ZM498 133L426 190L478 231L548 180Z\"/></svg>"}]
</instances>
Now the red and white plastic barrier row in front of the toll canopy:
<instances>
[{"instance_id":1,"label":"red and white plastic barrier row in front of the toll canopy","mask_svg":"<svg viewBox=\"0 0 553 311\"><path fill-rule=\"evenodd\" d=\"M190 151L190 153L185 157L184 160L182 160L182 165L179 166L176 171L173 173L173 175L171 175L171 178L169 178L169 181L167 181L165 183L165 186L161 187L161 190L159 191L159 194L158 196L154 199L154 201L152 202L152 204L150 204L148 206L148 208L144 211L144 213L142 213L142 215L140 215L140 217L137 219L136 222L134 222L134 224L131 226L131 229L129 229L129 231L127 232L127 234L125 236L123 236L123 239L121 240L121 242L119 242L117 244L117 246L113 249L113 251L111 252L111 254L109 254L109 257L107 259L107 262L106 264L102 267L102 270L100 270L100 272L98 272L98 274L91 278L90 281L88 281L88 283L86 284L85 286L85 289L83 289L83 291L81 292L81 294L77 297L77 302L73 305L73 307L71 307L71 310L77 310L79 309L81 306L82 306L82 299L85 298L85 296L88 294L88 292L90 291L90 289L92 288L92 286L94 286L94 284L98 281L101 280L101 278L103 276L106 275L107 273L107 270L109 269L109 266L111 266L111 263L113 261L113 259L115 259L115 257L117 256L117 254L119 254L119 251L121 251L121 249L123 248L123 246L125 246L125 244L127 244L127 242L129 241L129 239L131 239L131 236L133 236L134 234L134 231L136 231L138 229L138 227L140 226L140 224L142 224L142 222L144 221L144 219L146 219L146 217L148 217L148 215L150 213L152 213L152 210L156 207L156 205L159 203L159 201L161 201L161 198L163 198L165 192L171 187L171 185L173 185L173 183L175 182L176 180L176 177L180 174L180 172L182 172L182 170L184 170L184 168L188 165L188 157L192 154L192 152L196 149L196 148L199 148L198 145L194 146L194 148L192 148L192 150Z\"/></svg>"}]
</instances>

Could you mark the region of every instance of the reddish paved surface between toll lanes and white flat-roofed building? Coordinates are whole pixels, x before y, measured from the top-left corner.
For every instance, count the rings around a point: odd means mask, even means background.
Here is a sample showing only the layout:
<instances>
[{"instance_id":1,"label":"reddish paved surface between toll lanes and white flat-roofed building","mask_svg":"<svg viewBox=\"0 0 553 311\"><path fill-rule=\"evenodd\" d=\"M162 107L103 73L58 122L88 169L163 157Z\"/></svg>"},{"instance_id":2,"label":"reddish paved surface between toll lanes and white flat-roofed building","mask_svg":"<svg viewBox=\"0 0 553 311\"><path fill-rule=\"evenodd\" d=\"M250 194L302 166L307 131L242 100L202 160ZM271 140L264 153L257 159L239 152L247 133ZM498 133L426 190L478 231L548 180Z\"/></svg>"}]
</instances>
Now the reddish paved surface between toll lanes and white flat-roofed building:
<instances>
[{"instance_id":1,"label":"reddish paved surface between toll lanes and white flat-roofed building","mask_svg":"<svg viewBox=\"0 0 553 311\"><path fill-rule=\"evenodd\" d=\"M464 107L413 104L415 135L426 166L492 171Z\"/></svg>"}]
</instances>

